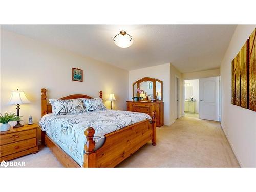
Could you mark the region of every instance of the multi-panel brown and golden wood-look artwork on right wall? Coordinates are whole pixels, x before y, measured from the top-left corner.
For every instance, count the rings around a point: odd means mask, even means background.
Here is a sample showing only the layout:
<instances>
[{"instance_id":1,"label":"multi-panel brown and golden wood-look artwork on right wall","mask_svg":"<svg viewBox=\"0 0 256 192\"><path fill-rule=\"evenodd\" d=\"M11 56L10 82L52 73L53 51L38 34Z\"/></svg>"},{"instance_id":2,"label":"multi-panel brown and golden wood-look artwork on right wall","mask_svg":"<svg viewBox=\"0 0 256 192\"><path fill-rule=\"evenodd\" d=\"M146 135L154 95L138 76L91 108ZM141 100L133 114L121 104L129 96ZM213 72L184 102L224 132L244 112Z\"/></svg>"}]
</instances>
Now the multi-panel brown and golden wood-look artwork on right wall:
<instances>
[{"instance_id":1,"label":"multi-panel brown and golden wood-look artwork on right wall","mask_svg":"<svg viewBox=\"0 0 256 192\"><path fill-rule=\"evenodd\" d=\"M256 111L255 36L252 32L231 63L231 103Z\"/></svg>"}]
</instances>

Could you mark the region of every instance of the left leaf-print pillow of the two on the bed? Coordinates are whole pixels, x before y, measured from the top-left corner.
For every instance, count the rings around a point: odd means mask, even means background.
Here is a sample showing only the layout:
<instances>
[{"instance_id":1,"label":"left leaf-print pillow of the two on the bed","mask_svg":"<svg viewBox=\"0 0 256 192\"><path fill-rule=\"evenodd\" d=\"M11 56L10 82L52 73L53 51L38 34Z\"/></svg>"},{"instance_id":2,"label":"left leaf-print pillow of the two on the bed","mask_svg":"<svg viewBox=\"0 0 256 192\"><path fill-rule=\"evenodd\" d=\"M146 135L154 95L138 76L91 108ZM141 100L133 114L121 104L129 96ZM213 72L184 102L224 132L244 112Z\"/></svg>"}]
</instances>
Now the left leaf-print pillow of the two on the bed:
<instances>
[{"instance_id":1,"label":"left leaf-print pillow of the two on the bed","mask_svg":"<svg viewBox=\"0 0 256 192\"><path fill-rule=\"evenodd\" d=\"M54 115L72 115L86 112L82 99L49 99Z\"/></svg>"}]
</instances>

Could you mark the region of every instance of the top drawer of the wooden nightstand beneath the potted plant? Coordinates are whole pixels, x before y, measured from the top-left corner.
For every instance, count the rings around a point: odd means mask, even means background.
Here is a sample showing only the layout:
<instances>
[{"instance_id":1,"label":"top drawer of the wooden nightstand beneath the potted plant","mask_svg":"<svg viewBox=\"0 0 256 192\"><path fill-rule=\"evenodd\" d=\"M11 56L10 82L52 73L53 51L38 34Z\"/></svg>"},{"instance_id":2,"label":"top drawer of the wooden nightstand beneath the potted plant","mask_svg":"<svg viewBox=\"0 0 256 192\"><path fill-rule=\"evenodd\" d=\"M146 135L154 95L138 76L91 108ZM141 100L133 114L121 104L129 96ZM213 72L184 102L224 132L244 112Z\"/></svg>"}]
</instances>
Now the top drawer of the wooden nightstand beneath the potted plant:
<instances>
[{"instance_id":1,"label":"top drawer of the wooden nightstand beneath the potted plant","mask_svg":"<svg viewBox=\"0 0 256 192\"><path fill-rule=\"evenodd\" d=\"M0 145L5 145L9 143L14 143L17 141L30 139L33 137L37 137L36 135L36 129L26 130L26 131L20 131L5 135L0 135Z\"/></svg>"}]
</instances>

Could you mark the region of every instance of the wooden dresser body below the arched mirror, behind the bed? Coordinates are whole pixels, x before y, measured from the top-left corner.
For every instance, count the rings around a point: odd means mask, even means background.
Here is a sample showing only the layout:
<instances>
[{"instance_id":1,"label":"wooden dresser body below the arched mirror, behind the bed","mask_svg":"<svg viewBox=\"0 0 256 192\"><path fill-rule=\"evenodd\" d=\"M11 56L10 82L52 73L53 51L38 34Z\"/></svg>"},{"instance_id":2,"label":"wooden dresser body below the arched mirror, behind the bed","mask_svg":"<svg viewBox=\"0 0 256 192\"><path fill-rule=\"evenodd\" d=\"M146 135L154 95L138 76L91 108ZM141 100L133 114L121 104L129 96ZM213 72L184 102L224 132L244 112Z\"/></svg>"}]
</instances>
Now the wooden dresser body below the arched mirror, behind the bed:
<instances>
[{"instance_id":1,"label":"wooden dresser body below the arched mirror, behind the bed","mask_svg":"<svg viewBox=\"0 0 256 192\"><path fill-rule=\"evenodd\" d=\"M152 116L152 112L155 112L157 127L163 126L163 102L150 102L150 101L126 101L127 111L146 113Z\"/></svg>"}]
</instances>

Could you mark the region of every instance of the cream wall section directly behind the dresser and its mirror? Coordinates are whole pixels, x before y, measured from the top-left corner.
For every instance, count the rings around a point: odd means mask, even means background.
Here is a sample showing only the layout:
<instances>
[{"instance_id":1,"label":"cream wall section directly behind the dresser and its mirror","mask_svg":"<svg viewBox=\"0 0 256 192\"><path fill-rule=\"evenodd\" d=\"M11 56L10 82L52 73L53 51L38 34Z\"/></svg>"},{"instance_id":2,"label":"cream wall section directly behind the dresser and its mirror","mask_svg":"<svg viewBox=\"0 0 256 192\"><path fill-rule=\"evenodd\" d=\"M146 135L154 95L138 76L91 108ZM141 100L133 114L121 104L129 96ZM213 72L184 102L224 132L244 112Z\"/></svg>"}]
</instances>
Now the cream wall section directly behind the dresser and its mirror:
<instances>
[{"instance_id":1,"label":"cream wall section directly behind the dresser and its mirror","mask_svg":"<svg viewBox=\"0 0 256 192\"><path fill-rule=\"evenodd\" d=\"M164 124L170 124L170 63L129 71L129 100L133 97L133 83L143 77L163 81Z\"/></svg>"}]
</instances>

